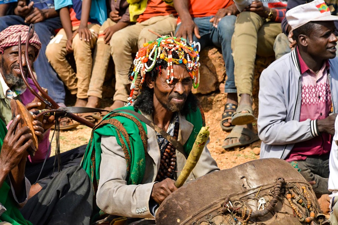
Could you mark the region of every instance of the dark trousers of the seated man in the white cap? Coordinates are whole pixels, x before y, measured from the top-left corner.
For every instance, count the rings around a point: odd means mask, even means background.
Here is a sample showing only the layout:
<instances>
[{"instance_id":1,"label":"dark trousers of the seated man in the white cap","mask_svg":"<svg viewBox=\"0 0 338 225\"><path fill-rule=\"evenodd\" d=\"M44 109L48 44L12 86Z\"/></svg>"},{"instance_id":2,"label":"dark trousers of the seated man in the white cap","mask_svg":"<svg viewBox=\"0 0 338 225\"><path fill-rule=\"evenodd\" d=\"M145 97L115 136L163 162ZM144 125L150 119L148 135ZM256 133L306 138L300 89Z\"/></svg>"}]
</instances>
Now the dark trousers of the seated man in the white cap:
<instances>
[{"instance_id":1,"label":"dark trousers of the seated man in the white cap","mask_svg":"<svg viewBox=\"0 0 338 225\"><path fill-rule=\"evenodd\" d=\"M323 194L330 194L329 182L329 154L321 156L309 156L303 161L297 161L300 174L309 182L315 181L312 185L317 197Z\"/></svg>"}]
</instances>

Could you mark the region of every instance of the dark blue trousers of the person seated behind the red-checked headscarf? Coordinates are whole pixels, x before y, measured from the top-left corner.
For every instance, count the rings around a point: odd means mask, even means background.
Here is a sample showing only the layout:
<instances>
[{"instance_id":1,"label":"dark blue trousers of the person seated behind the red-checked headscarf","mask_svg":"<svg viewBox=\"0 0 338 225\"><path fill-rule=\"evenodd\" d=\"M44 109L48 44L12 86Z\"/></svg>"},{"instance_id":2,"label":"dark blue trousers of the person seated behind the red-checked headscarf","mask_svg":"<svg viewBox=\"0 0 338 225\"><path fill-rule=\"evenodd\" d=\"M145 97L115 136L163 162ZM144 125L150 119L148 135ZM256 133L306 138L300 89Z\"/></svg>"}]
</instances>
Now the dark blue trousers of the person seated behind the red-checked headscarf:
<instances>
[{"instance_id":1,"label":"dark blue trousers of the person seated behind the red-checked headscarf","mask_svg":"<svg viewBox=\"0 0 338 225\"><path fill-rule=\"evenodd\" d=\"M28 25L25 23L24 18L16 15L4 16L0 19L0 31L11 25ZM37 32L39 39L41 41L41 50L37 60L34 62L34 70L37 74L39 84L48 89L48 95L52 97L52 99L56 103L65 103L65 87L49 64L46 57L46 47L51 40L51 38L55 35L54 30L62 28L62 24L59 17L46 19L40 23L34 24L34 30Z\"/></svg>"}]
</instances>

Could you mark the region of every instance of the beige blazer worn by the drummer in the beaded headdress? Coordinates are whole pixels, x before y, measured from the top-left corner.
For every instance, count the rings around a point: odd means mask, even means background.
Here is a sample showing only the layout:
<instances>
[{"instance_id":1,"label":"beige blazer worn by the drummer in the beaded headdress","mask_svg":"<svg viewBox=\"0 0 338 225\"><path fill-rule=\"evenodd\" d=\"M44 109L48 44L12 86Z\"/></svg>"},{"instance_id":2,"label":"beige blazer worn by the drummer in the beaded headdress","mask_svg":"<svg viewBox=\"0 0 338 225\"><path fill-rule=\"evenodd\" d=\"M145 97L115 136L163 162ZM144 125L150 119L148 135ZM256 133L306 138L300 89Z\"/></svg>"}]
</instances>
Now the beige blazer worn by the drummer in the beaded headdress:
<instances>
[{"instance_id":1,"label":"beige blazer worn by the drummer in the beaded headdress","mask_svg":"<svg viewBox=\"0 0 338 225\"><path fill-rule=\"evenodd\" d=\"M152 116L147 116L152 120ZM179 131L177 140L182 145L188 140L193 125L184 116L178 116ZM102 136L101 139L101 165L100 181L96 195L97 206L107 214L135 217L153 218L149 211L149 199L155 178L160 167L160 148L156 138L156 132L147 126L148 148L146 156L146 169L142 183L139 185L127 185L127 167L122 148L117 144L115 137ZM209 140L208 142L209 143ZM142 143L140 143L142 145ZM181 171L186 163L186 158L176 150L177 170ZM201 177L207 173L219 170L216 161L211 157L207 147L204 147L202 155L190 174L189 180ZM177 173L177 176L179 172Z\"/></svg>"}]
</instances>

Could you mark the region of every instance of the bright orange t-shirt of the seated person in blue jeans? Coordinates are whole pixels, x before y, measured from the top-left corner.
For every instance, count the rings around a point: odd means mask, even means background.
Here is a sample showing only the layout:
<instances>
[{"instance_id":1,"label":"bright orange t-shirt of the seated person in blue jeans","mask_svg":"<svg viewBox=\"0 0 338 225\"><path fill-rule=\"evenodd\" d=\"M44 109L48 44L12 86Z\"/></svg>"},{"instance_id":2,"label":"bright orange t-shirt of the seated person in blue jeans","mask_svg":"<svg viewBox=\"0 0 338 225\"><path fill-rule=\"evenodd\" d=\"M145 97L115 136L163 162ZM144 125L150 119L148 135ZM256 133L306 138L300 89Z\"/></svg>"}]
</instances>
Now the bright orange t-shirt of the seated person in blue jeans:
<instances>
[{"instance_id":1,"label":"bright orange t-shirt of the seated person in blue jeans","mask_svg":"<svg viewBox=\"0 0 338 225\"><path fill-rule=\"evenodd\" d=\"M189 12L191 17L215 16L220 8L226 8L234 4L233 0L190 0ZM177 23L181 20L178 17Z\"/></svg>"}]
</instances>

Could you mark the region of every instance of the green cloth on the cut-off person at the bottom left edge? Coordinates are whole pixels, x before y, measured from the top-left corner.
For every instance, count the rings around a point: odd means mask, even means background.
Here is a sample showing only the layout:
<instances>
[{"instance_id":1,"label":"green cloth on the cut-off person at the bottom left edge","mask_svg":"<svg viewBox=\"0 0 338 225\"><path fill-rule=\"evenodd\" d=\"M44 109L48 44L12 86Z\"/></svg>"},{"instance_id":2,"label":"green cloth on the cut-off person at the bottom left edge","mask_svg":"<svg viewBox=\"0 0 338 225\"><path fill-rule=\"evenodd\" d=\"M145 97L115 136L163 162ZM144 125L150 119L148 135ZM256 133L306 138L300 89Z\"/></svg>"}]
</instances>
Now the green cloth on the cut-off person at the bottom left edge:
<instances>
[{"instance_id":1,"label":"green cloth on the cut-off person at the bottom left edge","mask_svg":"<svg viewBox=\"0 0 338 225\"><path fill-rule=\"evenodd\" d=\"M0 149L3 144L3 140L7 133L6 125L0 120ZM1 216L0 222L8 222L13 225L21 225L21 224L31 224L29 221L26 221L21 215L16 203L11 197L11 189L8 183L3 182L0 188L0 202L7 209Z\"/></svg>"}]
</instances>

